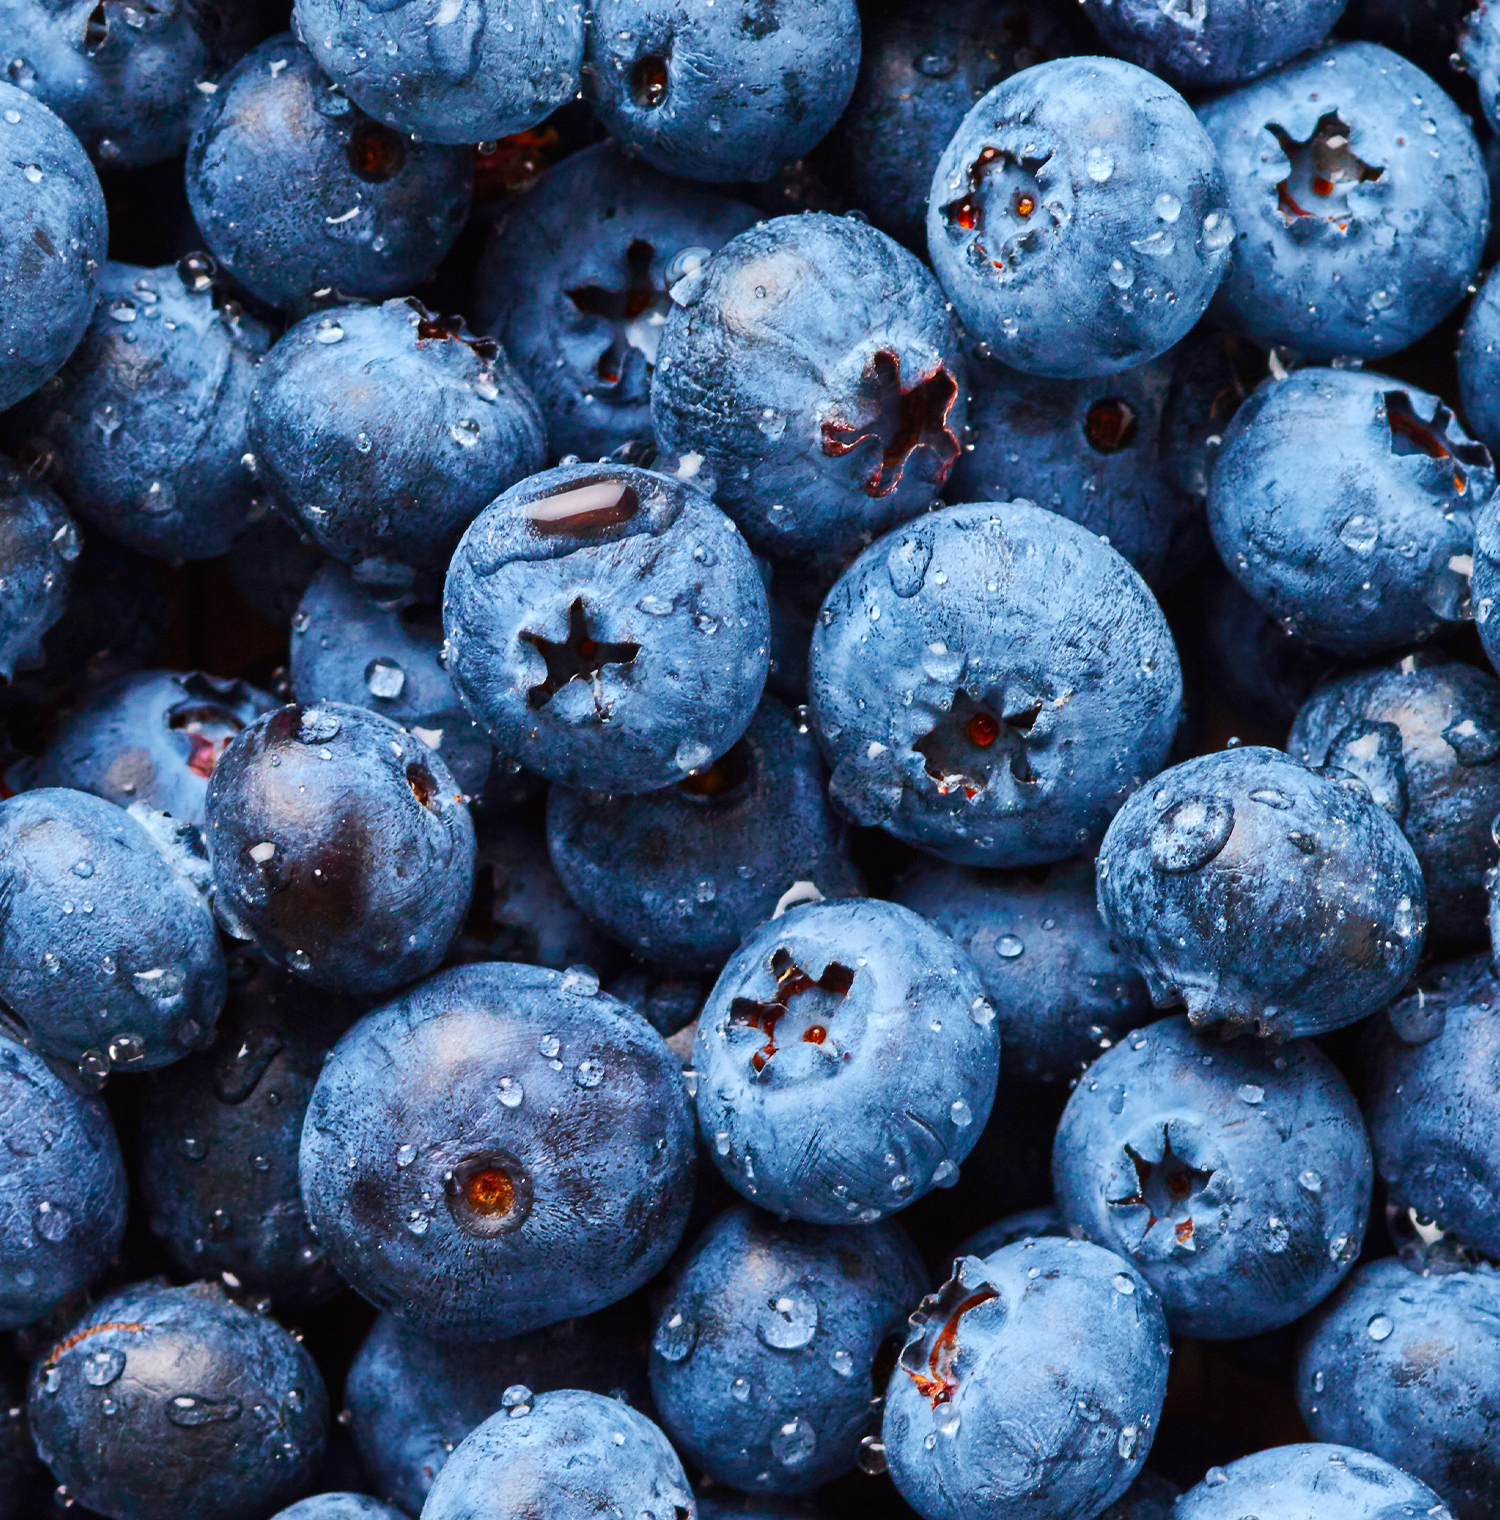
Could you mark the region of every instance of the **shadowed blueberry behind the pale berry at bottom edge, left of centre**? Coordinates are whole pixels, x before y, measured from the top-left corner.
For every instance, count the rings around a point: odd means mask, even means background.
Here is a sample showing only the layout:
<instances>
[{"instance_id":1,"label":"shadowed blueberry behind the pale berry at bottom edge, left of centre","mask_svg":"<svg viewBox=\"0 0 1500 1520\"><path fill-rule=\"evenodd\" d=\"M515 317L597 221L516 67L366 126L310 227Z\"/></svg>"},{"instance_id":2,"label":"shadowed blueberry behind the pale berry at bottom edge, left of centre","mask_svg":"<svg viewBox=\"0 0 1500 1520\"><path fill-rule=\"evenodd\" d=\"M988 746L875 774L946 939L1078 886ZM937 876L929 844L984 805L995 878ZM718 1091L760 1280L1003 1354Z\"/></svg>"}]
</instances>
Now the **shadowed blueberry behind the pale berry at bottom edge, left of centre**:
<instances>
[{"instance_id":1,"label":"shadowed blueberry behind the pale berry at bottom edge, left of centre","mask_svg":"<svg viewBox=\"0 0 1500 1520\"><path fill-rule=\"evenodd\" d=\"M646 1357L634 1322L606 1310L508 1341L429 1341L380 1315L350 1368L350 1432L371 1487L418 1514L444 1462L497 1409L508 1388L582 1388L628 1395L650 1412Z\"/></svg>"}]
</instances>

